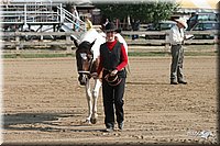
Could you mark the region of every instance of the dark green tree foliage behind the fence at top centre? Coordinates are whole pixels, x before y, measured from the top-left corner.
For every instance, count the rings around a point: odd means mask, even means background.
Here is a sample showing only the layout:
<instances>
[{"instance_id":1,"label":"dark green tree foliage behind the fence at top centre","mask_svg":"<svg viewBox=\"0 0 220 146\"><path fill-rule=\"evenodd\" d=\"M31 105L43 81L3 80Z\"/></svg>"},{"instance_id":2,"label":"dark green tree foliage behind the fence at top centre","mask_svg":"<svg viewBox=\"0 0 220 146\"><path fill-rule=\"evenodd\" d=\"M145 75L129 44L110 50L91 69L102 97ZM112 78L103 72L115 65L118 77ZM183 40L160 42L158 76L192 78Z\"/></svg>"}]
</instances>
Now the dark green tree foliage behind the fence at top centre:
<instances>
[{"instance_id":1,"label":"dark green tree foliage behind the fence at top centre","mask_svg":"<svg viewBox=\"0 0 220 146\"><path fill-rule=\"evenodd\" d=\"M103 18L111 21L114 19L140 20L142 23L155 23L161 20L167 20L178 8L178 4L172 2L143 2L143 3L95 3L95 7L101 10Z\"/></svg>"}]
</instances>

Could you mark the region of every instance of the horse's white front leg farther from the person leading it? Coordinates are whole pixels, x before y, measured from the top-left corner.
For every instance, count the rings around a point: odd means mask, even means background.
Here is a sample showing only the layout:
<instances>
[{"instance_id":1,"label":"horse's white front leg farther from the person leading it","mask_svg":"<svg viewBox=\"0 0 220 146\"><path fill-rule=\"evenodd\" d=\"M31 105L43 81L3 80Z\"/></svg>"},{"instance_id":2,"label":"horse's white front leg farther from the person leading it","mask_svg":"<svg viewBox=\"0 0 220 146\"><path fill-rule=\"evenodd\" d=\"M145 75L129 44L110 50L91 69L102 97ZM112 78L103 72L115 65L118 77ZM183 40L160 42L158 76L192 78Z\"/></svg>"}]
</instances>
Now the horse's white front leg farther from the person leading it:
<instances>
[{"instance_id":1,"label":"horse's white front leg farther from the person leading it","mask_svg":"<svg viewBox=\"0 0 220 146\"><path fill-rule=\"evenodd\" d=\"M90 82L89 79L86 81L86 98L87 98L87 103L88 103L88 115L86 117L86 123L90 124L91 120L91 114L92 114L92 102L91 102L91 91L90 91Z\"/></svg>"}]
</instances>

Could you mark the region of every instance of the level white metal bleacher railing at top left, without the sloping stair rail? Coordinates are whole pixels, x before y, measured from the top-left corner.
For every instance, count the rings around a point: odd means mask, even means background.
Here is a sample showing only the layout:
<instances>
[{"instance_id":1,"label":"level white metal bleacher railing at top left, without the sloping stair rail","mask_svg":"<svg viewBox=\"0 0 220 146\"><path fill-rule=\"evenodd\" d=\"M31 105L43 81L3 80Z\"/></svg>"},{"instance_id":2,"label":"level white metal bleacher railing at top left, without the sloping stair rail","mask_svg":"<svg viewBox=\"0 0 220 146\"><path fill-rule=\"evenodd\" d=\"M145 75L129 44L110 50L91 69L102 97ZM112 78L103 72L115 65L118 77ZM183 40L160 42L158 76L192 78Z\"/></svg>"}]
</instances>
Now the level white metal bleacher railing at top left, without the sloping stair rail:
<instances>
[{"instance_id":1,"label":"level white metal bleacher railing at top left, without the sloping stair rail","mask_svg":"<svg viewBox=\"0 0 220 146\"><path fill-rule=\"evenodd\" d=\"M57 12L53 11L57 4L1 4L0 23L2 24L33 24L59 23Z\"/></svg>"}]
</instances>

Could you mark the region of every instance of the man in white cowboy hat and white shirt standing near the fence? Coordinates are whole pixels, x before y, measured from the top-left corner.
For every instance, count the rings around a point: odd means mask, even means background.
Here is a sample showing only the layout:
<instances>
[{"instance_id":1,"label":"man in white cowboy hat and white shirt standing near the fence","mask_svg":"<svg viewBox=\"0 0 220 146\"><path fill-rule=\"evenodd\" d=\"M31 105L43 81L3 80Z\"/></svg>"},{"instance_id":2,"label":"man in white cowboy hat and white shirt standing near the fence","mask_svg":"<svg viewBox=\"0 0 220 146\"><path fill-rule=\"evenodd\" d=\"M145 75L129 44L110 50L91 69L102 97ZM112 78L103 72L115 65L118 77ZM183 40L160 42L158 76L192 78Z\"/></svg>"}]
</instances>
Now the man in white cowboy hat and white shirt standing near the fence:
<instances>
[{"instance_id":1,"label":"man in white cowboy hat and white shirt standing near the fence","mask_svg":"<svg viewBox=\"0 0 220 146\"><path fill-rule=\"evenodd\" d=\"M170 29L170 52L172 52L172 65L170 65L170 85L187 82L184 80L183 63L184 63L184 48L183 43L186 36L184 35L184 29L187 27L185 19L175 20L176 25Z\"/></svg>"}]
</instances>

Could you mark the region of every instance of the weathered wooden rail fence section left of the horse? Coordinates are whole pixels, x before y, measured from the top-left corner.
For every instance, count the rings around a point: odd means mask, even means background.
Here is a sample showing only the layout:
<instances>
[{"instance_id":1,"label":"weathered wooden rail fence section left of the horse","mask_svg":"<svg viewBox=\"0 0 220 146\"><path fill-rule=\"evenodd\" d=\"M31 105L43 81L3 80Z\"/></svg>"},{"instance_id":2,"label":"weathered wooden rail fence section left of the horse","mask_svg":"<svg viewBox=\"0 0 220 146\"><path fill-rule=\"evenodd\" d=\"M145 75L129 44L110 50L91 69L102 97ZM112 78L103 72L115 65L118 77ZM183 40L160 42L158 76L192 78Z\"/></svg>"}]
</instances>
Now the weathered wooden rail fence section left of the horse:
<instances>
[{"instance_id":1,"label":"weathered wooden rail fence section left of the horse","mask_svg":"<svg viewBox=\"0 0 220 146\"><path fill-rule=\"evenodd\" d=\"M80 32L76 32L80 35ZM75 47L74 41L72 41L72 32L4 32L3 36L7 38L1 41L2 48L11 47L15 48L16 55L20 55L21 48L34 47L34 46L62 46L66 47L66 54L72 54L72 47ZM26 36L65 36L65 40L24 40Z\"/></svg>"}]
</instances>

